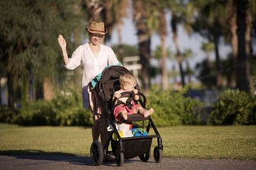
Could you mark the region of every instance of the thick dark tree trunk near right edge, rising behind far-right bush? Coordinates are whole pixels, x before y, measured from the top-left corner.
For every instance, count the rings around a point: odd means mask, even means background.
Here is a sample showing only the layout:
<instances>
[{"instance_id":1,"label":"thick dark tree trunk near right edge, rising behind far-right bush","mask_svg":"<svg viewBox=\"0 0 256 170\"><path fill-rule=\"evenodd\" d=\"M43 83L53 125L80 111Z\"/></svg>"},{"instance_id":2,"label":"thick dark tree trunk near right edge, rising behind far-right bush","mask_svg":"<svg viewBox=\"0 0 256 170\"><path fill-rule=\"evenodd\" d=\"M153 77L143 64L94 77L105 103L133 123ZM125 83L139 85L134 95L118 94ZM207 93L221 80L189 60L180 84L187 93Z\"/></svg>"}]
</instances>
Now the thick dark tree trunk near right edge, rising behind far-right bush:
<instances>
[{"instance_id":1,"label":"thick dark tree trunk near right edge, rising behind far-right bush","mask_svg":"<svg viewBox=\"0 0 256 170\"><path fill-rule=\"evenodd\" d=\"M237 89L250 92L250 73L248 54L246 53L246 0L236 0L237 4L237 36L238 36L238 55L237 55Z\"/></svg>"}]
</instances>

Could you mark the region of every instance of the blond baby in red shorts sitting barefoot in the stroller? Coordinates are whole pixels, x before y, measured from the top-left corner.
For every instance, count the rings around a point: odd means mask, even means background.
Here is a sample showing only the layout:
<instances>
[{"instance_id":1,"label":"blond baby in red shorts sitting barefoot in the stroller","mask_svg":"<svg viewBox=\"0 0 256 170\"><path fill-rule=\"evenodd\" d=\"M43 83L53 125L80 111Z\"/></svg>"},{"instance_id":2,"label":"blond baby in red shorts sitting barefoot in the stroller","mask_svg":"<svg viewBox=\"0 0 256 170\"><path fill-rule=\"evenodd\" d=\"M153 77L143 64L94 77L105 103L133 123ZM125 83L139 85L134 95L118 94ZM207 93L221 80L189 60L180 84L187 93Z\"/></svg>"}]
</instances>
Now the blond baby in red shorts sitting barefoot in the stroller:
<instances>
[{"instance_id":1,"label":"blond baby in red shorts sitting barefoot in the stroller","mask_svg":"<svg viewBox=\"0 0 256 170\"><path fill-rule=\"evenodd\" d=\"M131 74L122 74L119 78L120 82L120 90L116 91L113 95L113 99L115 97L118 99L115 102L114 108L114 116L118 122L122 122L122 120L127 120L127 115L131 115L133 113L139 113L143 115L143 117L148 117L152 113L154 113L154 109L150 108L147 110L143 108L140 104L136 104L135 101L138 101L140 97L138 96L138 90L134 89L136 87L137 81ZM122 96L122 92L134 92L132 97Z\"/></svg>"}]
</instances>

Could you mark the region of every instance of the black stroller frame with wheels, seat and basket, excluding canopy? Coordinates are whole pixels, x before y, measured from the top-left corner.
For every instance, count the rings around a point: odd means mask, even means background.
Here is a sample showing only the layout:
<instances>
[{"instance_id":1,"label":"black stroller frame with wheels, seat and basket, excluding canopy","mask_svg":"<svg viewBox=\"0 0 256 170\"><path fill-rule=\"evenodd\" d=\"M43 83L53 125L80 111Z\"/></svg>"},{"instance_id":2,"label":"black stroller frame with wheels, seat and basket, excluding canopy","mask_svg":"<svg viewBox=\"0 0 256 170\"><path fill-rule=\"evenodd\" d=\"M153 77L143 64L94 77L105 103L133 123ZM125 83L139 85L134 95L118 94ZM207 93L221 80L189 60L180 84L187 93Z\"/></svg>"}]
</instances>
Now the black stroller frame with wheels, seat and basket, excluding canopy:
<instances>
[{"instance_id":1,"label":"black stroller frame with wheels, seat and basket, excluding canopy","mask_svg":"<svg viewBox=\"0 0 256 170\"><path fill-rule=\"evenodd\" d=\"M132 95L133 92L124 92L121 95ZM139 103L143 108L146 105L146 97L141 93L138 92L140 96ZM117 99L114 99L113 103L116 102ZM93 141L91 148L90 148L90 155L92 157L92 162L95 166L100 166L104 160L106 155L115 155L115 160L117 166L122 166L124 164L124 159L132 159L134 157L139 157L140 160L143 162L147 162L150 158L150 147L152 144L152 139L157 138L157 146L154 148L154 160L157 163L160 163L163 159L163 144L162 138L157 131L156 125L154 124L152 118L149 116L144 118L143 115L140 114L132 114L128 115L127 122L141 122L142 121L142 128L144 129L144 121L148 120L148 125L146 131L149 132L150 128L154 130L154 135L148 136L138 136L138 137L129 137L129 138L121 138L118 130L116 129L115 122L113 118L113 109L114 104L109 102L106 103L100 100L100 104L102 106L102 113L104 114L104 118L111 124L113 127L113 131L109 132L108 139L104 146L99 141ZM107 115L107 116L106 116ZM112 138L113 134L115 133L118 140L114 140ZM111 143L112 150L108 150L109 143Z\"/></svg>"}]
</instances>

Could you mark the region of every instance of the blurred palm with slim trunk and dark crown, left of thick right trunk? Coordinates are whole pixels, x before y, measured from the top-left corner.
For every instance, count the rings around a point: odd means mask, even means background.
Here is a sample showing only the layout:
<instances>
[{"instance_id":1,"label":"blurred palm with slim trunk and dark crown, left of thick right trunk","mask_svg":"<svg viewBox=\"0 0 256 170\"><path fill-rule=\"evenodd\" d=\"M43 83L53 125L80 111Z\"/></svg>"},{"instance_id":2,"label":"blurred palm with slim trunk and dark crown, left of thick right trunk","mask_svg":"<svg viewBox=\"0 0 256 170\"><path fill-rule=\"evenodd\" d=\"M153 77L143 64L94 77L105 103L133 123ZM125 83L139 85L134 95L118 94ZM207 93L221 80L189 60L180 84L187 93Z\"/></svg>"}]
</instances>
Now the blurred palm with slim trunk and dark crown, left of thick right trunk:
<instances>
[{"instance_id":1,"label":"blurred palm with slim trunk and dark crown, left of thick right trunk","mask_svg":"<svg viewBox=\"0 0 256 170\"><path fill-rule=\"evenodd\" d=\"M226 25L226 16L228 15L227 1L200 1L194 0L193 4L198 8L196 22L193 24L195 31L214 43L216 55L216 80L217 87L223 85L221 76L220 50L219 43L222 35L223 25Z\"/></svg>"}]
</instances>

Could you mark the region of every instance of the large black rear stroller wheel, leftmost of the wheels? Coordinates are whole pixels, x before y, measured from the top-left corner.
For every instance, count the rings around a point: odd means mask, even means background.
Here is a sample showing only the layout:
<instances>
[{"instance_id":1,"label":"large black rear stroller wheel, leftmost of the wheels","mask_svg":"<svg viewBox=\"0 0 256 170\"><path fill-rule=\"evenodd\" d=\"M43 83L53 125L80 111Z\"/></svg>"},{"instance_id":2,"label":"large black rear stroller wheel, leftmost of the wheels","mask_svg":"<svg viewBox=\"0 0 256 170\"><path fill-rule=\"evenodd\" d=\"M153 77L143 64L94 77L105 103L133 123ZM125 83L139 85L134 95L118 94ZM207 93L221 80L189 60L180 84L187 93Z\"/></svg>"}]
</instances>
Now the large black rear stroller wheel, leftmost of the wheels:
<instances>
[{"instance_id":1,"label":"large black rear stroller wheel, leftmost of the wheels","mask_svg":"<svg viewBox=\"0 0 256 170\"><path fill-rule=\"evenodd\" d=\"M99 141L93 141L90 149L92 163L95 166L100 166L103 162L104 152Z\"/></svg>"}]
</instances>

